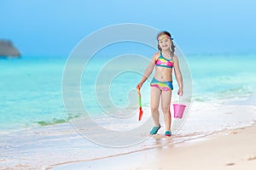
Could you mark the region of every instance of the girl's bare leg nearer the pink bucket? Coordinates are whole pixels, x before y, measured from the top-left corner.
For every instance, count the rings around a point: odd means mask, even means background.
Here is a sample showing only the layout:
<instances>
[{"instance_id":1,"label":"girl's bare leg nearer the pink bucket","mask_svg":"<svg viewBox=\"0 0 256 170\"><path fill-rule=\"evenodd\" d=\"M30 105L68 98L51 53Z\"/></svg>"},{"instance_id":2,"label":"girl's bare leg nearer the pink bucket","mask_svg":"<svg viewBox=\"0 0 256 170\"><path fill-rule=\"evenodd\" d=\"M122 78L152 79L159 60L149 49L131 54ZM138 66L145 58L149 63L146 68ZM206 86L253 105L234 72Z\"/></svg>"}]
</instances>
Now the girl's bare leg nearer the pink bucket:
<instances>
[{"instance_id":1,"label":"girl's bare leg nearer the pink bucket","mask_svg":"<svg viewBox=\"0 0 256 170\"><path fill-rule=\"evenodd\" d=\"M171 131L171 122L172 122L171 111L170 111L171 99L172 99L172 91L162 92L161 105L162 105L162 111L165 117L166 131Z\"/></svg>"}]
</instances>

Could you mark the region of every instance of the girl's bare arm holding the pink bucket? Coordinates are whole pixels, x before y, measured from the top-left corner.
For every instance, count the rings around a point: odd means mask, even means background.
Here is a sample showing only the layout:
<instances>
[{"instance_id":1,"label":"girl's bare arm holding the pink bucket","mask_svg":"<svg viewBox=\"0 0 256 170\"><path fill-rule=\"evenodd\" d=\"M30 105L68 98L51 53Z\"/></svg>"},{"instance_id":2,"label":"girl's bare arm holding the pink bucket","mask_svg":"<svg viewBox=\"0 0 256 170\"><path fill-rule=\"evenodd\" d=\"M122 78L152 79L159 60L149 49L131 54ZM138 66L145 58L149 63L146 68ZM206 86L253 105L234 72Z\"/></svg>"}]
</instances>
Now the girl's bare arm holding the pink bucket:
<instances>
[{"instance_id":1,"label":"girl's bare arm holding the pink bucket","mask_svg":"<svg viewBox=\"0 0 256 170\"><path fill-rule=\"evenodd\" d=\"M173 56L173 67L174 67L175 77L176 77L176 80L177 80L177 85L178 85L178 88L179 88L178 91L177 91L177 94L178 95L183 95L183 76L181 74L178 59L177 59L176 55Z\"/></svg>"}]
</instances>

